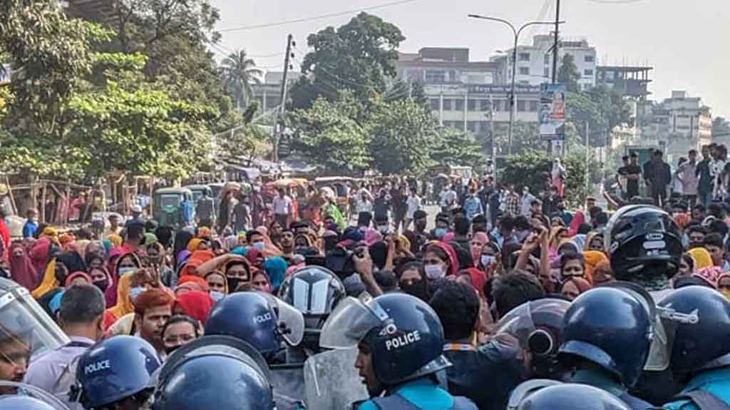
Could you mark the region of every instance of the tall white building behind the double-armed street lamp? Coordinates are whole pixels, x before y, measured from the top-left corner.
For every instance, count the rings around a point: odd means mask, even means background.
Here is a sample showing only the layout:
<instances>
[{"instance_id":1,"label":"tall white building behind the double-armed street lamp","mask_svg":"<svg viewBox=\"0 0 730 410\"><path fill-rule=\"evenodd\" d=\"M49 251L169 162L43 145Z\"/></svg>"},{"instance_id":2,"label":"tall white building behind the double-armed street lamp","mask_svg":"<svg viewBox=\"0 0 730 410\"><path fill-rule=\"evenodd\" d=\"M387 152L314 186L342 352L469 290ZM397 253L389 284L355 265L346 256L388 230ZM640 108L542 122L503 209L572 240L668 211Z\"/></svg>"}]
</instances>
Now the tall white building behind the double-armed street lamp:
<instances>
[{"instance_id":1,"label":"tall white building behind the double-armed street lamp","mask_svg":"<svg viewBox=\"0 0 730 410\"><path fill-rule=\"evenodd\" d=\"M531 45L517 47L517 66L515 82L520 84L540 85L550 82L553 77L553 36L540 34L532 38ZM578 83L587 90L596 85L596 47L591 47L587 39L562 39L558 47L558 69L564 55L573 56L575 66L580 74ZM490 60L499 63L500 72L506 82L512 81L512 53L514 49L505 50L502 55L493 56Z\"/></svg>"}]
</instances>

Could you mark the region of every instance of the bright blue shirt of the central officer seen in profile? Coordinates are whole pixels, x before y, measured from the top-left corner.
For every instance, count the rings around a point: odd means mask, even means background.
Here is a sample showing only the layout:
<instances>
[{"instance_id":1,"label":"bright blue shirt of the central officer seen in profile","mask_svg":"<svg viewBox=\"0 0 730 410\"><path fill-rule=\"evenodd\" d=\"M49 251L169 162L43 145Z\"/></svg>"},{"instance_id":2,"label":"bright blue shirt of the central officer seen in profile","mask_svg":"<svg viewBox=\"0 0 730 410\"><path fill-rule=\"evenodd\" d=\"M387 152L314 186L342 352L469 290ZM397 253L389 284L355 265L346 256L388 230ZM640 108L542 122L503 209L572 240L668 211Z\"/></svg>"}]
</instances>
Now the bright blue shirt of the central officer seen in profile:
<instances>
[{"instance_id":1,"label":"bright blue shirt of the central officer seen in profile","mask_svg":"<svg viewBox=\"0 0 730 410\"><path fill-rule=\"evenodd\" d=\"M434 379L421 377L396 387L391 395L372 398L358 410L476 410L467 398L455 397L443 390Z\"/></svg>"}]
</instances>

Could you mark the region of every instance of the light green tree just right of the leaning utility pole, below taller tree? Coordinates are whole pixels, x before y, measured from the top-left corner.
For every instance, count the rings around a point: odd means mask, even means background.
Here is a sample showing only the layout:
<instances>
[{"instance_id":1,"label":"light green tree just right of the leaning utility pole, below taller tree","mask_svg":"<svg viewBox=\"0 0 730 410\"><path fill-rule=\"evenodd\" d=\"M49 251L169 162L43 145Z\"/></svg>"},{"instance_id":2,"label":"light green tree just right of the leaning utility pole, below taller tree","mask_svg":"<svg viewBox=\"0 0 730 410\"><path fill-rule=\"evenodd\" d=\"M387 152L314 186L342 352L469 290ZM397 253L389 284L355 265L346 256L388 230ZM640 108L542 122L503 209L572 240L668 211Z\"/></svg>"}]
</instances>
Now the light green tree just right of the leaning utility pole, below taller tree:
<instances>
[{"instance_id":1,"label":"light green tree just right of the leaning utility pole, below taller tree","mask_svg":"<svg viewBox=\"0 0 730 410\"><path fill-rule=\"evenodd\" d=\"M366 169L372 161L369 130L353 119L353 114L361 111L353 93L343 91L337 101L318 98L310 109L289 112L291 123L299 129L294 149L326 172Z\"/></svg>"}]
</instances>

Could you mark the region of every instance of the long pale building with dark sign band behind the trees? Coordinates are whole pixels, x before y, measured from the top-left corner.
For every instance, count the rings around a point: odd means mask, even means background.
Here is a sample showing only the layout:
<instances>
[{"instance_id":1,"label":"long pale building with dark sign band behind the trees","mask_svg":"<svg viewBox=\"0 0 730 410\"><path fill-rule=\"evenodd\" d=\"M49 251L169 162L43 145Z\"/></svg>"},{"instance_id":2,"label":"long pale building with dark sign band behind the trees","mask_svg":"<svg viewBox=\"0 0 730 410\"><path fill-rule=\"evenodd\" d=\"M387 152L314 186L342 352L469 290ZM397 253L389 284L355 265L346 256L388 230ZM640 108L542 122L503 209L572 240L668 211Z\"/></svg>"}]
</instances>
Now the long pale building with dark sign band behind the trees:
<instances>
[{"instance_id":1,"label":"long pale building with dark sign band behind the trees","mask_svg":"<svg viewBox=\"0 0 730 410\"><path fill-rule=\"evenodd\" d=\"M510 85L499 61L469 61L468 48L424 47L394 64L399 80L423 84L440 125L472 132L487 151L492 135L507 133ZM515 121L537 123L538 107L539 85L518 84Z\"/></svg>"}]
</instances>

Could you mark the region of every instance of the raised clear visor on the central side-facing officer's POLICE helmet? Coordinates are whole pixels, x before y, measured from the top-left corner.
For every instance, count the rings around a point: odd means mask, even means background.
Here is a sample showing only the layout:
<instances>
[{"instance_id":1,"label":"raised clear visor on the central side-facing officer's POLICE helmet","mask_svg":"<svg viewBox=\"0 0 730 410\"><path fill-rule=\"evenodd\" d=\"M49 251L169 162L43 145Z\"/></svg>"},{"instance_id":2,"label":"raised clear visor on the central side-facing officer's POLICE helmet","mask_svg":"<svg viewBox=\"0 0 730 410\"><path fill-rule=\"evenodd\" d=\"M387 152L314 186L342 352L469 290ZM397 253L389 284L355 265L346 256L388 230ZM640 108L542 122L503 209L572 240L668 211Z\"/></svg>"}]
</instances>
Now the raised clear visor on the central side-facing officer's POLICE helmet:
<instances>
[{"instance_id":1,"label":"raised clear visor on the central side-facing officer's POLICE helmet","mask_svg":"<svg viewBox=\"0 0 730 410\"><path fill-rule=\"evenodd\" d=\"M377 314L379 311L380 314ZM327 349L356 347L369 330L383 325L387 319L388 314L382 312L374 300L363 302L352 297L346 298L337 304L324 322L320 346Z\"/></svg>"}]
</instances>

